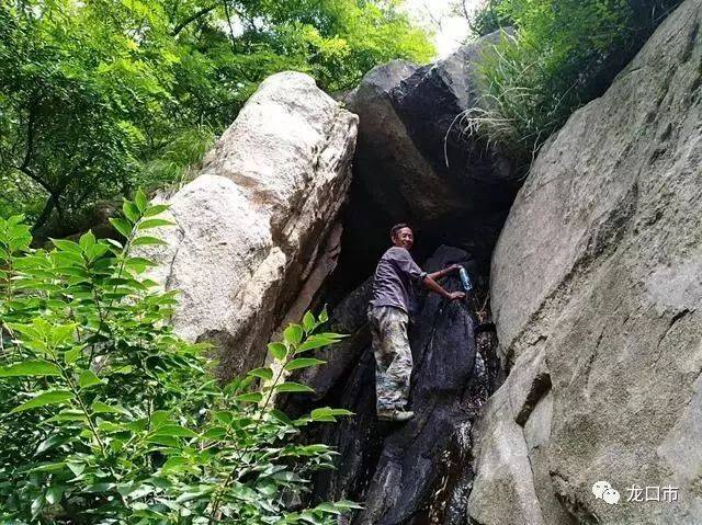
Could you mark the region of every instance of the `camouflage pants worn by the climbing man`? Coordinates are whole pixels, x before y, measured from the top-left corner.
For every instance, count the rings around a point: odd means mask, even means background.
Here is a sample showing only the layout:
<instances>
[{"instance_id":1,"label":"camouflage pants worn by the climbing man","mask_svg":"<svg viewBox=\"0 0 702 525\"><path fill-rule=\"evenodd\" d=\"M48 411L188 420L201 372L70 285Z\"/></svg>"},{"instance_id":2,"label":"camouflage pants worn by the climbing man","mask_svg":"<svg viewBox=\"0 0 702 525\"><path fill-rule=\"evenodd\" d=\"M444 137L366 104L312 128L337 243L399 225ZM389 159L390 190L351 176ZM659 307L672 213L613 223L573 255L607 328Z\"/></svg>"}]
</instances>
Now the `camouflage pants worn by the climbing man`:
<instances>
[{"instance_id":1,"label":"camouflage pants worn by the climbing man","mask_svg":"<svg viewBox=\"0 0 702 525\"><path fill-rule=\"evenodd\" d=\"M412 352L407 339L409 318L399 308L369 308L373 354L375 355L375 391L377 410L403 410L409 401Z\"/></svg>"}]
</instances>

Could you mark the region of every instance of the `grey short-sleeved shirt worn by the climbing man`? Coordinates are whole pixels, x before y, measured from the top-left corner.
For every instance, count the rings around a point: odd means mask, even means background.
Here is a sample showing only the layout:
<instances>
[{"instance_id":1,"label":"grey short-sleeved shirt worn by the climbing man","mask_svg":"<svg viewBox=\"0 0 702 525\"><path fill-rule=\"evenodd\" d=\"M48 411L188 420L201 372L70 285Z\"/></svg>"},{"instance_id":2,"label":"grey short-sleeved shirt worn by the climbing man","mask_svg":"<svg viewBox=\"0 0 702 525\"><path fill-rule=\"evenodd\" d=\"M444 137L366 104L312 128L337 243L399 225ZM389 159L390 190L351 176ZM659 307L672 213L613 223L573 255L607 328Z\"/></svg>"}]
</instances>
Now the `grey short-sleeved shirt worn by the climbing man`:
<instances>
[{"instance_id":1,"label":"grey short-sleeved shirt worn by the climbing man","mask_svg":"<svg viewBox=\"0 0 702 525\"><path fill-rule=\"evenodd\" d=\"M372 306L393 306L409 313L414 282L423 279L423 272L407 250L393 247L375 269Z\"/></svg>"}]
</instances>

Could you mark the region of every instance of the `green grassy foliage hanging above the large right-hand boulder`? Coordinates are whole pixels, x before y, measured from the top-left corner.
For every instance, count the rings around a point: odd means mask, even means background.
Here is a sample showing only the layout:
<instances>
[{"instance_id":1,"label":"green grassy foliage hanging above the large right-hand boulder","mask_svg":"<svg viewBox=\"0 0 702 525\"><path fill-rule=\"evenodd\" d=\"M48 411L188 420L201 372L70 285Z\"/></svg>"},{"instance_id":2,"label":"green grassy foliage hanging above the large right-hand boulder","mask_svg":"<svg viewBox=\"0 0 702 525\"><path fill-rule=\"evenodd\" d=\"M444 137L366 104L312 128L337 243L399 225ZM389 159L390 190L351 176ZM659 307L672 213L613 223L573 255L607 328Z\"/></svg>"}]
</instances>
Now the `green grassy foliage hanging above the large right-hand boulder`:
<instances>
[{"instance_id":1,"label":"green grassy foliage hanging above the large right-hand boulder","mask_svg":"<svg viewBox=\"0 0 702 525\"><path fill-rule=\"evenodd\" d=\"M487 33L511 24L479 72L484 96L468 127L528 168L575 110L601 95L680 0L488 0L474 19Z\"/></svg>"}]
</instances>

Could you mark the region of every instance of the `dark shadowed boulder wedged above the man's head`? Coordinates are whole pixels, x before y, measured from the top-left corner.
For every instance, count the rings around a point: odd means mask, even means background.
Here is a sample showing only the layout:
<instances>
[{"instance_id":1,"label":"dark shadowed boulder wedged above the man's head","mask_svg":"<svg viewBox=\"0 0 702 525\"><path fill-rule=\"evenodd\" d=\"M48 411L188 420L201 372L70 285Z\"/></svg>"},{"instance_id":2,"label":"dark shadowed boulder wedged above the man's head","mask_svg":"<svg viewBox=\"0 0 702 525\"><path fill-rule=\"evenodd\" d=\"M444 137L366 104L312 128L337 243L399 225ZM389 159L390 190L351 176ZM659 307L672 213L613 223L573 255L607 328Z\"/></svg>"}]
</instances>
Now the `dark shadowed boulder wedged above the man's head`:
<instances>
[{"instance_id":1,"label":"dark shadowed boulder wedged above the man's head","mask_svg":"<svg viewBox=\"0 0 702 525\"><path fill-rule=\"evenodd\" d=\"M476 65L501 35L429 66L378 66L347 96L360 127L342 267L370 273L389 227L406 220L431 239L420 259L446 243L487 270L519 171L499 148L466 133L463 117L479 102Z\"/></svg>"}]
</instances>

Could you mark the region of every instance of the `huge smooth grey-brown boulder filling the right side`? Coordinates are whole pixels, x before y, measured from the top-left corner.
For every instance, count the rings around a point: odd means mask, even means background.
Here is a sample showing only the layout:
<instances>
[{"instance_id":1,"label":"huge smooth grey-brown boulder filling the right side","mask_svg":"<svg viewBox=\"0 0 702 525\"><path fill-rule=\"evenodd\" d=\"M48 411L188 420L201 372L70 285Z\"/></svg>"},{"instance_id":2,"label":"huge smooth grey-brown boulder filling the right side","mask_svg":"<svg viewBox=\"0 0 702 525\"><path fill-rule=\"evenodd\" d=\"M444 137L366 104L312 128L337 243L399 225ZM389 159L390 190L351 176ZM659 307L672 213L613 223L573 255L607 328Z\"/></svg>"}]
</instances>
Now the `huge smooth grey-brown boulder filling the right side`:
<instances>
[{"instance_id":1,"label":"huge smooth grey-brown boulder filling the right side","mask_svg":"<svg viewBox=\"0 0 702 525\"><path fill-rule=\"evenodd\" d=\"M517 196L491 273L511 372L477 432L474 523L702 522L701 23L684 1ZM629 501L646 487L677 501Z\"/></svg>"}]
</instances>

